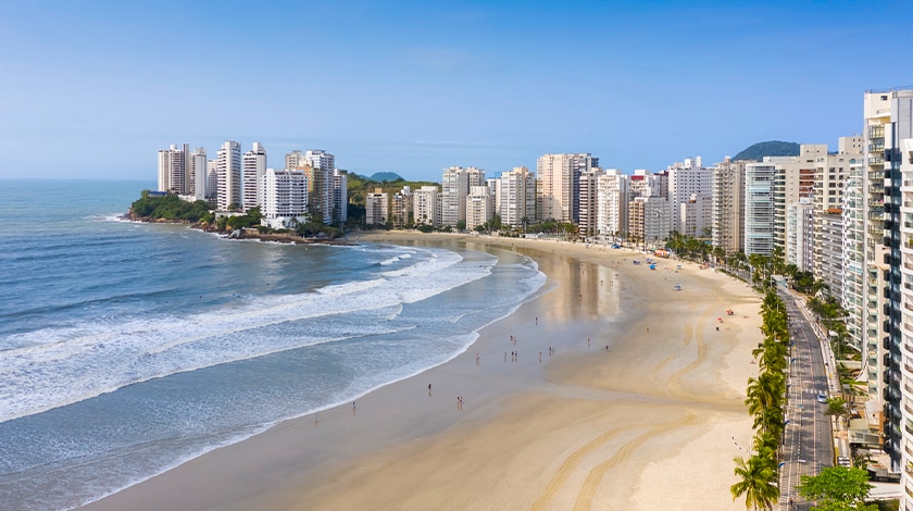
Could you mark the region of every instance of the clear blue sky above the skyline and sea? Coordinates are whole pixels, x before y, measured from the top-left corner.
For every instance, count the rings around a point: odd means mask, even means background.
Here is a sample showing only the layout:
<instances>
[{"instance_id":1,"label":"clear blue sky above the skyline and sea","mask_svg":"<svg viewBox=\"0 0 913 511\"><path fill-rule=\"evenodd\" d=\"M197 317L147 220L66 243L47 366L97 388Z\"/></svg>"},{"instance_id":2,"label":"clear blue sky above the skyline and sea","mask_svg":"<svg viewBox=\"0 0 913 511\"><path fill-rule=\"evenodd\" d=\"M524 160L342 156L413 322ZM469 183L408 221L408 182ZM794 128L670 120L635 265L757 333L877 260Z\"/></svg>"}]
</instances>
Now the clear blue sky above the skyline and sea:
<instances>
[{"instance_id":1,"label":"clear blue sky above the skyline and sea","mask_svg":"<svg viewBox=\"0 0 913 511\"><path fill-rule=\"evenodd\" d=\"M260 141L359 174L489 175L547 152L706 164L861 130L913 85L913 2L5 2L0 177L155 178Z\"/></svg>"}]
</instances>

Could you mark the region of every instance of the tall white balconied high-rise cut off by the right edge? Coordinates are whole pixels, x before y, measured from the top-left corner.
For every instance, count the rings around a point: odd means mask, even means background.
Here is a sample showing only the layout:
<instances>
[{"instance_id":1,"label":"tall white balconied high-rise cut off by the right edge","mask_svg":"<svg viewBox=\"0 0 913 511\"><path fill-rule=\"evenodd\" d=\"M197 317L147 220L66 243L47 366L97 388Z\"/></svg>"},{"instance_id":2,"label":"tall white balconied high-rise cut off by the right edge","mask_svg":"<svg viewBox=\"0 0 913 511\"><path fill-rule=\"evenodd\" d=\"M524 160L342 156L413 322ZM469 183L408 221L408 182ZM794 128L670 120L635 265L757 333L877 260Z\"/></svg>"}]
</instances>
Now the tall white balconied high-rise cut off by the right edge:
<instances>
[{"instance_id":1,"label":"tall white balconied high-rise cut off by the right edge","mask_svg":"<svg viewBox=\"0 0 913 511\"><path fill-rule=\"evenodd\" d=\"M885 450L893 472L901 473L901 509L913 510L913 474L902 470L913 463L913 392L906 390L913 388L913 363L904 354L913 351L913 187L906 185L913 182L913 89L868 91L863 112L870 219L865 261L874 266L867 275L875 277L868 286L865 328L878 332L867 354L877 379L886 384L874 398L884 399ZM874 361L873 351L880 356Z\"/></svg>"}]
</instances>

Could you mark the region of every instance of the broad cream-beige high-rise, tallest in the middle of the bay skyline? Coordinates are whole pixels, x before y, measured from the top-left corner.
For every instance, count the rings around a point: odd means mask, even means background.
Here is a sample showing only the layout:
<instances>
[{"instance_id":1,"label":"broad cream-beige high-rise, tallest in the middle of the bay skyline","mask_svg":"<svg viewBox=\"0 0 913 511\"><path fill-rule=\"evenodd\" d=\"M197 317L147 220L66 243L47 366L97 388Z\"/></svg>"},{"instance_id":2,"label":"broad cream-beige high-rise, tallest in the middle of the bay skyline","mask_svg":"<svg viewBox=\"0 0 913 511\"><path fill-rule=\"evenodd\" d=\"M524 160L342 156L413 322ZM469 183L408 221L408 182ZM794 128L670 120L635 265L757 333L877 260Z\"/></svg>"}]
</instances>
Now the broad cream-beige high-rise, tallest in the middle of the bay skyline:
<instances>
[{"instance_id":1,"label":"broad cream-beige high-rise, tallest in the middle of the bay skyline","mask_svg":"<svg viewBox=\"0 0 913 511\"><path fill-rule=\"evenodd\" d=\"M580 173L599 166L590 153L543 154L536 162L536 211L539 220L579 221Z\"/></svg>"}]
</instances>

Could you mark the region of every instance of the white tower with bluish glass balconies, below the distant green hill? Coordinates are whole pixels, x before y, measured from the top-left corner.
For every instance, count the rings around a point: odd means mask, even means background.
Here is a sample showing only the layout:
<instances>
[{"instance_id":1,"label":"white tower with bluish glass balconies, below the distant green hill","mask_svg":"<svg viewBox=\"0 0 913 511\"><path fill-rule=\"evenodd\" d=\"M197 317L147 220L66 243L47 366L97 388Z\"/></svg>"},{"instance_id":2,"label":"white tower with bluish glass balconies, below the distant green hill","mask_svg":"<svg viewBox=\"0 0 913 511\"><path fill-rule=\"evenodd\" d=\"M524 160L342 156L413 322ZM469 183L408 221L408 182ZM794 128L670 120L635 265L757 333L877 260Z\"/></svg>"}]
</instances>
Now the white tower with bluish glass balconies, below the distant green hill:
<instances>
[{"instance_id":1,"label":"white tower with bluish glass balconies, below the distant green hill","mask_svg":"<svg viewBox=\"0 0 913 511\"><path fill-rule=\"evenodd\" d=\"M746 256L771 256L774 249L775 166L771 162L745 165Z\"/></svg>"}]
</instances>

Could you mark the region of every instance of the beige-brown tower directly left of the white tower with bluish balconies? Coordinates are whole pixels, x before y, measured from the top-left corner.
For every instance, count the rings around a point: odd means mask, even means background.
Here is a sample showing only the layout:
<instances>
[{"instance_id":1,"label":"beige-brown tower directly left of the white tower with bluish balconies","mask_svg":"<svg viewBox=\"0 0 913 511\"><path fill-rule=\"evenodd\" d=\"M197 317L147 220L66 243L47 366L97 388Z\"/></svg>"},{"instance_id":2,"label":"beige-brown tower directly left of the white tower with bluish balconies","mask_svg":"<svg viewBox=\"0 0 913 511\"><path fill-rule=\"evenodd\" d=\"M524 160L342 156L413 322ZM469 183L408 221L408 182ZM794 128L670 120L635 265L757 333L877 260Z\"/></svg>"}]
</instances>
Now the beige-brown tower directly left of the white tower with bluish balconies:
<instances>
[{"instance_id":1,"label":"beige-brown tower directly left of the white tower with bluish balconies","mask_svg":"<svg viewBox=\"0 0 913 511\"><path fill-rule=\"evenodd\" d=\"M713 246L726 253L745 248L745 165L729 157L713 169Z\"/></svg>"}]
</instances>

